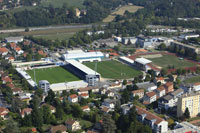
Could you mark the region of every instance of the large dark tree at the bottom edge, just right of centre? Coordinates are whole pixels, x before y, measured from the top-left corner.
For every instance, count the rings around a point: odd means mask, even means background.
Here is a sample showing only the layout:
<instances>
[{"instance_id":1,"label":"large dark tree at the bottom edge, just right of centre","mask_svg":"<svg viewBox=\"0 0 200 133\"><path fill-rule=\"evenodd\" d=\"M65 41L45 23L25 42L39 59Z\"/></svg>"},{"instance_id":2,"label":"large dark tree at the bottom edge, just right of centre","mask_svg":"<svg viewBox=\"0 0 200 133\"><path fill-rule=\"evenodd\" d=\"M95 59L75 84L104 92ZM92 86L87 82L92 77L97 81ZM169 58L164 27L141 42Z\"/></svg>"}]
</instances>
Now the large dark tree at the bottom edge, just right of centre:
<instances>
[{"instance_id":1,"label":"large dark tree at the bottom edge, just right of centre","mask_svg":"<svg viewBox=\"0 0 200 133\"><path fill-rule=\"evenodd\" d=\"M103 115L102 127L103 127L103 133L115 133L115 130L117 129L115 121L109 114Z\"/></svg>"}]
</instances>

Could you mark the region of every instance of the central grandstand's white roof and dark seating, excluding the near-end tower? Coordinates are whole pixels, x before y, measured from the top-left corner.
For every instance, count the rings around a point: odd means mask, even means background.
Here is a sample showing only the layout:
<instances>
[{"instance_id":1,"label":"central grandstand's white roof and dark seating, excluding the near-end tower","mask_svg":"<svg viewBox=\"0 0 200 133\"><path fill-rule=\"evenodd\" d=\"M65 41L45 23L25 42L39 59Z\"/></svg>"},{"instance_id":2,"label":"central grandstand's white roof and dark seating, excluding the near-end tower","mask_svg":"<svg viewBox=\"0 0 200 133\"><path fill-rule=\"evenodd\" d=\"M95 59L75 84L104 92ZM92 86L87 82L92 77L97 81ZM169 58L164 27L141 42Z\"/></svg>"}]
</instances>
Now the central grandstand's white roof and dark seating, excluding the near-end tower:
<instances>
[{"instance_id":1,"label":"central grandstand's white roof and dark seating, excluding the near-end tower","mask_svg":"<svg viewBox=\"0 0 200 133\"><path fill-rule=\"evenodd\" d=\"M94 75L98 80L100 80L101 75L89 67L81 64L76 60L68 60L67 64L64 66L66 69L80 77L81 79L87 80L87 75Z\"/></svg>"}]
</instances>

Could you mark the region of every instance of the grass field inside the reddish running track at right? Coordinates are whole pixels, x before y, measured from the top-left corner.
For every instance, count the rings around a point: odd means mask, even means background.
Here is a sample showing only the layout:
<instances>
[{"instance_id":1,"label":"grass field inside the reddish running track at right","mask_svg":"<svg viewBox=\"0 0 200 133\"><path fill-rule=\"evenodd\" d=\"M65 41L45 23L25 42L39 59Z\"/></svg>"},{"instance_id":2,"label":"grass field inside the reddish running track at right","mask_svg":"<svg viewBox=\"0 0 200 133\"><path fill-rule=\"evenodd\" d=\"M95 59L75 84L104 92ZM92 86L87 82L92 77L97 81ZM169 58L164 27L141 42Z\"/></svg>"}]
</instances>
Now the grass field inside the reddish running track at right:
<instances>
[{"instance_id":1,"label":"grass field inside the reddish running track at right","mask_svg":"<svg viewBox=\"0 0 200 133\"><path fill-rule=\"evenodd\" d=\"M169 65L174 65L175 68L196 66L196 64L192 62L189 62L187 60L180 60L178 57L173 55L162 55L162 57L149 58L149 60L151 60L153 64L160 66L162 68L167 68Z\"/></svg>"}]
</instances>

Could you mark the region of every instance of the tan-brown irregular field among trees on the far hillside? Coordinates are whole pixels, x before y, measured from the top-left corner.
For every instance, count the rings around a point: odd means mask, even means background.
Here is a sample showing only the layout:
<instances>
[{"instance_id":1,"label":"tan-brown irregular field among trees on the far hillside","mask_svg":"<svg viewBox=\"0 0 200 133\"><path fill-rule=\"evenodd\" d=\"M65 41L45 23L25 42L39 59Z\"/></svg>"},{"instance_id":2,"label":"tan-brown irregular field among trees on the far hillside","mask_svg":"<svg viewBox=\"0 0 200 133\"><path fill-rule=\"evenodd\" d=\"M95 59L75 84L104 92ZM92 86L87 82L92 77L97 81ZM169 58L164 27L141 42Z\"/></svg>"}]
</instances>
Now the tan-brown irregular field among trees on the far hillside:
<instances>
[{"instance_id":1,"label":"tan-brown irregular field among trees on the far hillside","mask_svg":"<svg viewBox=\"0 0 200 133\"><path fill-rule=\"evenodd\" d=\"M131 13L136 12L138 9L141 9L143 7L141 6L134 6L134 5L126 5L126 6L122 6L119 9L117 9L116 11L112 12L108 17L106 17L103 22L111 22L115 19L115 17L117 15L124 15L125 11L129 11Z\"/></svg>"}]
</instances>

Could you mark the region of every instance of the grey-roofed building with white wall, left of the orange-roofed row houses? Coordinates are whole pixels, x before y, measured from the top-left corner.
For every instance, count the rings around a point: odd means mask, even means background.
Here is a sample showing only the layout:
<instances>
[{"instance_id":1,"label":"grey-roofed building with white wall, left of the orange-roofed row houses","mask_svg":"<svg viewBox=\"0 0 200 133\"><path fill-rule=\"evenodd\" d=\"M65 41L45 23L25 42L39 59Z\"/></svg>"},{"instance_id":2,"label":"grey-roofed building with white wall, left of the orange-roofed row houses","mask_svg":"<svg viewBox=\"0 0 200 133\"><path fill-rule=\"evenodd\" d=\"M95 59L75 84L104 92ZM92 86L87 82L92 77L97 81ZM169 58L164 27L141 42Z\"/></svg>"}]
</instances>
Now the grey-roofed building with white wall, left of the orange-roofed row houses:
<instances>
[{"instance_id":1,"label":"grey-roofed building with white wall, left of the orange-roofed row houses","mask_svg":"<svg viewBox=\"0 0 200 133\"><path fill-rule=\"evenodd\" d=\"M145 89L148 92L151 92L157 88L157 85L155 85L153 82L142 82L136 84L138 88Z\"/></svg>"}]
</instances>

